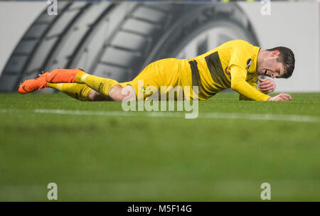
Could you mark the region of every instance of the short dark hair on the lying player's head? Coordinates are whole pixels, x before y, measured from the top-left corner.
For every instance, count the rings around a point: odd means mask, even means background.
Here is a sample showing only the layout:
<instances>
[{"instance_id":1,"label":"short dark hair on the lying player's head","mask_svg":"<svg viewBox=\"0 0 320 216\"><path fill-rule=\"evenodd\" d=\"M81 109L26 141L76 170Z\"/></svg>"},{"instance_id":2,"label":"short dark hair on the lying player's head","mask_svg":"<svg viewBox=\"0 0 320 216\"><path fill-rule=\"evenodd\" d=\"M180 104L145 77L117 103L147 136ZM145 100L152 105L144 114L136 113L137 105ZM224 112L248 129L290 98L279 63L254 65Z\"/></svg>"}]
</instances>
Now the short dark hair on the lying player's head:
<instances>
[{"instance_id":1,"label":"short dark hair on the lying player's head","mask_svg":"<svg viewBox=\"0 0 320 216\"><path fill-rule=\"evenodd\" d=\"M292 75L292 72L294 71L294 53L289 48L278 46L276 48L269 49L268 51L274 51L278 50L280 52L277 62L282 63L284 65L284 75L282 75L282 78L289 78Z\"/></svg>"}]
</instances>

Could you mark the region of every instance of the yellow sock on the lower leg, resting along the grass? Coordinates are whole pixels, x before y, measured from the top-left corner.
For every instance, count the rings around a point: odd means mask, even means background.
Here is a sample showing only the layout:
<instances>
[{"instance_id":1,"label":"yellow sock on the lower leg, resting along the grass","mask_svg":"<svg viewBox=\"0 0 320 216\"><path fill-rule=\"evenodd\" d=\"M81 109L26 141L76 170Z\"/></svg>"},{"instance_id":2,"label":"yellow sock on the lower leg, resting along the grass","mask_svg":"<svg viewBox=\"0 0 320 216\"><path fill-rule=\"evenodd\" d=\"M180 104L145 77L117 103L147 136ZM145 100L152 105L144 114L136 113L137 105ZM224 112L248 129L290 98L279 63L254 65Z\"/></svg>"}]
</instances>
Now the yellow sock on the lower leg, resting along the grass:
<instances>
[{"instance_id":1,"label":"yellow sock on the lower leg, resting along the grass","mask_svg":"<svg viewBox=\"0 0 320 216\"><path fill-rule=\"evenodd\" d=\"M82 101L89 100L89 94L91 92L91 88L85 84L78 83L51 83L48 82L48 87L51 87L55 90L59 90L70 97L75 99L80 99Z\"/></svg>"}]
</instances>

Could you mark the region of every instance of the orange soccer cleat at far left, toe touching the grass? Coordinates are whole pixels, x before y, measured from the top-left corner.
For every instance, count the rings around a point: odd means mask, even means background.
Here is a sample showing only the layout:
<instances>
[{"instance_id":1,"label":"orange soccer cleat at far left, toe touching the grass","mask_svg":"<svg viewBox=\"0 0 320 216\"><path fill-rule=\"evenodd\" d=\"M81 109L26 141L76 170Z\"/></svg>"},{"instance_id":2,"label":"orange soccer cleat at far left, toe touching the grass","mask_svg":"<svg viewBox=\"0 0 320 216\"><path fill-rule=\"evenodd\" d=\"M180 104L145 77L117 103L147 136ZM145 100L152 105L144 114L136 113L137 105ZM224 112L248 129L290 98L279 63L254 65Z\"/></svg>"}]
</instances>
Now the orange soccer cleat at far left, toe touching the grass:
<instances>
[{"instance_id":1,"label":"orange soccer cleat at far left, toe touching the grass","mask_svg":"<svg viewBox=\"0 0 320 216\"><path fill-rule=\"evenodd\" d=\"M48 87L46 76L49 72L43 72L36 79L25 80L19 85L18 92L20 94L28 94L35 90L41 90L43 87L46 89Z\"/></svg>"}]
</instances>

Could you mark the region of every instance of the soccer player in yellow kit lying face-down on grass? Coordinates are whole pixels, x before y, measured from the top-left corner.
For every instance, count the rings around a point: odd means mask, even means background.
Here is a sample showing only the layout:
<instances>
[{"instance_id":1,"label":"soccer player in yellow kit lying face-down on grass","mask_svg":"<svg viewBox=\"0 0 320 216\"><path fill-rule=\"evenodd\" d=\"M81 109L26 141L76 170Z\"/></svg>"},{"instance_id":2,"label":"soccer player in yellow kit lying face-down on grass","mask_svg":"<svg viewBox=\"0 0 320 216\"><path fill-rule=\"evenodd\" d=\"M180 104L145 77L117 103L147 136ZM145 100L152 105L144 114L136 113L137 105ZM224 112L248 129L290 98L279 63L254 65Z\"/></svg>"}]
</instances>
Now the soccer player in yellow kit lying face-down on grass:
<instances>
[{"instance_id":1,"label":"soccer player in yellow kit lying face-down on grass","mask_svg":"<svg viewBox=\"0 0 320 216\"><path fill-rule=\"evenodd\" d=\"M55 69L44 72L35 80L24 81L18 92L26 94L51 87L80 100L122 101L147 99L156 91L159 91L158 95L167 94L172 87L181 86L183 90L190 87L191 91L183 92L184 99L194 99L192 87L198 86L196 97L200 100L231 88L240 93L240 99L285 101L292 97L284 93L275 97L267 95L274 91L274 81L259 79L259 75L288 78L294 70L294 61L294 53L289 48L262 50L246 41L229 41L196 58L158 60L146 66L129 82L119 83L89 75L78 68ZM139 86L138 81L140 84L143 81L143 86Z\"/></svg>"}]
</instances>

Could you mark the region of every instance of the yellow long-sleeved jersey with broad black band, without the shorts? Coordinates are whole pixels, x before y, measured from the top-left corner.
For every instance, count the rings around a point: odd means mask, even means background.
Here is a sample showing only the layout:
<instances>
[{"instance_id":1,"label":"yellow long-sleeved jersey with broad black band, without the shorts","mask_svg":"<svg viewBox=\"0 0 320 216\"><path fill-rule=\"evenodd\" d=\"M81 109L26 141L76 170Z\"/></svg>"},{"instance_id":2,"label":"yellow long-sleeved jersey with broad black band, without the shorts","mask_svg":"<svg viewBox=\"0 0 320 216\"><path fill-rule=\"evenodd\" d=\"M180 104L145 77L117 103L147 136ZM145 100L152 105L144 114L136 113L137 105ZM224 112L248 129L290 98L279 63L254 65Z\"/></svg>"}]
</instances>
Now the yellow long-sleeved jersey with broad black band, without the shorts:
<instances>
[{"instance_id":1,"label":"yellow long-sleeved jersey with broad black band, without the shorts","mask_svg":"<svg viewBox=\"0 0 320 216\"><path fill-rule=\"evenodd\" d=\"M192 85L199 86L199 99L233 87L247 98L265 101L270 96L256 90L257 56L260 48L246 41L223 43L217 48L188 60Z\"/></svg>"}]
</instances>

